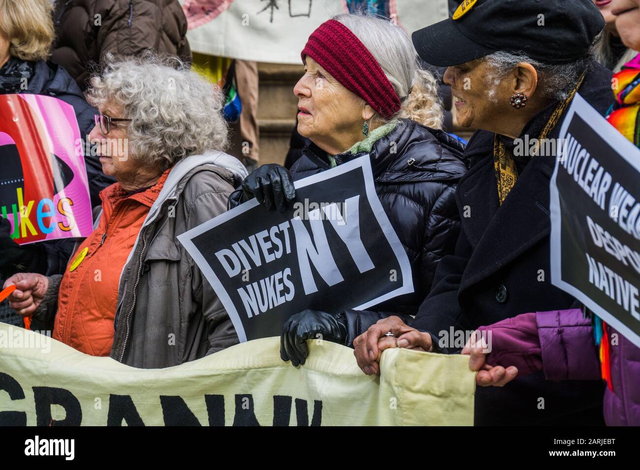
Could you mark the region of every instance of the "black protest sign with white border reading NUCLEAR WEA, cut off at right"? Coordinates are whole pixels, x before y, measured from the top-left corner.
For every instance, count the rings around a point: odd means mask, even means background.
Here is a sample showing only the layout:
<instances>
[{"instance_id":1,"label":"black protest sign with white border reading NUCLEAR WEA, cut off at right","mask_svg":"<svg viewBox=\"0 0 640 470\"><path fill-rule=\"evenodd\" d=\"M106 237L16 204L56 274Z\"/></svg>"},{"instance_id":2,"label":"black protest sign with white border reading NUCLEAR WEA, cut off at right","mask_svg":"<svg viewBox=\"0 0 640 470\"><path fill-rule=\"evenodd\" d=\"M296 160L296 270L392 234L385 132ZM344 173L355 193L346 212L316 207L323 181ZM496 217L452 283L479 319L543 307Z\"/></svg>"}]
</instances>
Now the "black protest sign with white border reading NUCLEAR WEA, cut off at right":
<instances>
[{"instance_id":1,"label":"black protest sign with white border reading NUCLEAR WEA, cut off at right","mask_svg":"<svg viewBox=\"0 0 640 470\"><path fill-rule=\"evenodd\" d=\"M640 150L575 95L551 179L551 279L640 347Z\"/></svg>"}]
</instances>

